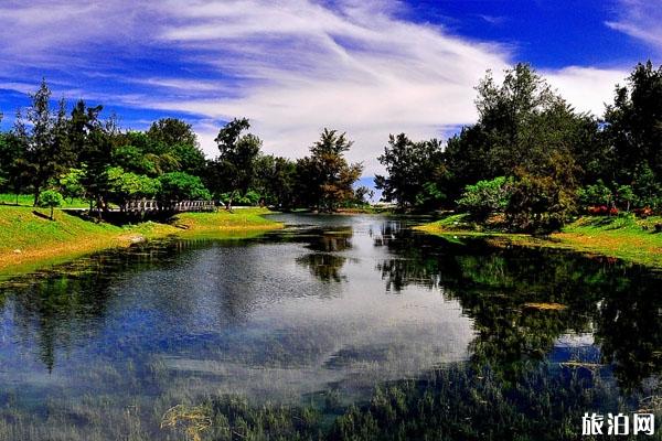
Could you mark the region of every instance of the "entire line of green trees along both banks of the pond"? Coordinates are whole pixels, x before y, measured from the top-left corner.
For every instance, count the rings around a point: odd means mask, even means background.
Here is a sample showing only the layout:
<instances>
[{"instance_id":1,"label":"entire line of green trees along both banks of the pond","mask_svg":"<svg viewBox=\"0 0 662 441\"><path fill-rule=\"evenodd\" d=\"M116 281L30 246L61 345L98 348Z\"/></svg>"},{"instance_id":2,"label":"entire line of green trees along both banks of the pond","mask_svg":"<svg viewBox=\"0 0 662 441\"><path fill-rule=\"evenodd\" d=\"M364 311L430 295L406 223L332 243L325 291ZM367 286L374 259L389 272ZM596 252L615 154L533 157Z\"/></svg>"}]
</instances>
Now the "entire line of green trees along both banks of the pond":
<instances>
[{"instance_id":1,"label":"entire line of green trees along both banks of the pond","mask_svg":"<svg viewBox=\"0 0 662 441\"><path fill-rule=\"evenodd\" d=\"M662 67L639 64L600 118L576 111L527 64L490 73L477 86L479 119L446 143L391 135L375 178L385 202L403 211L459 208L509 228L559 228L581 211L616 214L662 208ZM296 161L261 153L247 119L216 138L206 160L191 126L161 119L147 131L121 131L102 107L49 106L45 83L25 116L0 135L0 187L44 190L97 207L140 197L216 198L282 208L333 211L365 203L354 183L361 164L344 154L345 133L328 130Z\"/></svg>"}]
</instances>

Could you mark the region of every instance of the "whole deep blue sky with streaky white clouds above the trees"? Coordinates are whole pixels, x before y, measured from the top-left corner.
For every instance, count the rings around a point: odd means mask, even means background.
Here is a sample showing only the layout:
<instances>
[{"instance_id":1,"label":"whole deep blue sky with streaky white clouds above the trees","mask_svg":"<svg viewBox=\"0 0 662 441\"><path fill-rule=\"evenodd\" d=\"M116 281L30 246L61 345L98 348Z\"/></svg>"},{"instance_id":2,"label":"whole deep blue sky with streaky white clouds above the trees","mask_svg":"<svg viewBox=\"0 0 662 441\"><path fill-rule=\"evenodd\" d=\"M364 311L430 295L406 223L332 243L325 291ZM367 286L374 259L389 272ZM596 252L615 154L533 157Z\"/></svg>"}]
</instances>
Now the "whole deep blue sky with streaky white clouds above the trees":
<instances>
[{"instance_id":1,"label":"whole deep blue sky with streaky white clouds above the trees","mask_svg":"<svg viewBox=\"0 0 662 441\"><path fill-rule=\"evenodd\" d=\"M127 128L186 119L210 155L233 117L291 158L332 127L370 176L388 133L473 122L485 69L531 62L601 114L637 62L662 62L661 22L661 0L6 0L0 110L8 128L45 77L55 98L104 104Z\"/></svg>"}]
</instances>

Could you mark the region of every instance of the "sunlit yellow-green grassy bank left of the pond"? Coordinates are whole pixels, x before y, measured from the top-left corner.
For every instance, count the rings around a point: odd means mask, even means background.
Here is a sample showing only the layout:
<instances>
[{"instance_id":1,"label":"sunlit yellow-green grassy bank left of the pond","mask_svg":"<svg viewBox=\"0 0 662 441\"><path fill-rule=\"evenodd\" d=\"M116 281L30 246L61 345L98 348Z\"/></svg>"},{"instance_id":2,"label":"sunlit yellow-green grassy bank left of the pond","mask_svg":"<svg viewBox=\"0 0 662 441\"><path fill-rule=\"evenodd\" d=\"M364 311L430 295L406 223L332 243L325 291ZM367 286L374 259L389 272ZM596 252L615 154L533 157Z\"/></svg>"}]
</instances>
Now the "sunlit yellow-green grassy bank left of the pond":
<instances>
[{"instance_id":1,"label":"sunlit yellow-green grassy bank left of the pond","mask_svg":"<svg viewBox=\"0 0 662 441\"><path fill-rule=\"evenodd\" d=\"M51 220L47 209L0 206L0 275L25 272L102 249L167 236L229 238L281 228L281 224L263 217L267 213L265 208L181 213L168 224L117 226L85 220L60 209Z\"/></svg>"}]
</instances>

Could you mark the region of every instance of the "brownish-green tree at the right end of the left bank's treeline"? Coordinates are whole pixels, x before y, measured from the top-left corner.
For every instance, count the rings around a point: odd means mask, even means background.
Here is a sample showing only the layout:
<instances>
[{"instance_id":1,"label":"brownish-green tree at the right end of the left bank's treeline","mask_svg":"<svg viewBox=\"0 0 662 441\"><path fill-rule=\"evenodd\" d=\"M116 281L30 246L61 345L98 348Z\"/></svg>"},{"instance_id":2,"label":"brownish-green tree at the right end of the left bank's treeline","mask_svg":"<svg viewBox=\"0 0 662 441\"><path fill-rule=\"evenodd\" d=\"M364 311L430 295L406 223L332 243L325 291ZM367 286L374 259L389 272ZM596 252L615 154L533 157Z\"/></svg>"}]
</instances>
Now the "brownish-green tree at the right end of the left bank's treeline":
<instances>
[{"instance_id":1,"label":"brownish-green tree at the right end of the left bank's treeline","mask_svg":"<svg viewBox=\"0 0 662 441\"><path fill-rule=\"evenodd\" d=\"M334 211L340 203L354 197L353 185L361 178L363 165L345 160L344 153L352 144L346 133L324 129L320 140L310 147L310 157L297 162L299 191L308 192L309 206Z\"/></svg>"}]
</instances>

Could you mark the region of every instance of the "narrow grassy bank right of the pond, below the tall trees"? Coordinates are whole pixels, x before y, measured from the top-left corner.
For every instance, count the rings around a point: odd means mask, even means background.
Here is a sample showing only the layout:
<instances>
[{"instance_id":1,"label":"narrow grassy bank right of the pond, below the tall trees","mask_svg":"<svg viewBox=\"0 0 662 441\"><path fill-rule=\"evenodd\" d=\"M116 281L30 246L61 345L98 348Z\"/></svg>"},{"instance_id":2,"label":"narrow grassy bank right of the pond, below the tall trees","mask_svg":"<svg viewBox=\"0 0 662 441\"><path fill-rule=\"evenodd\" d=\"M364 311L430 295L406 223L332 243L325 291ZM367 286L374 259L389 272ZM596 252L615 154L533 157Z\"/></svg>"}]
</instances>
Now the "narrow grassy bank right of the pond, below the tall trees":
<instances>
[{"instance_id":1,"label":"narrow grassy bank right of the pond, below the tall trees","mask_svg":"<svg viewBox=\"0 0 662 441\"><path fill-rule=\"evenodd\" d=\"M496 246L564 248L662 268L662 233L655 232L655 224L660 223L660 216L647 219L583 216L559 233L537 237L490 230L468 222L465 215L451 215L415 228L438 236L482 236Z\"/></svg>"}]
</instances>

